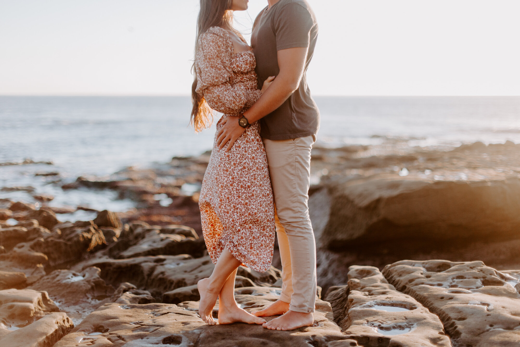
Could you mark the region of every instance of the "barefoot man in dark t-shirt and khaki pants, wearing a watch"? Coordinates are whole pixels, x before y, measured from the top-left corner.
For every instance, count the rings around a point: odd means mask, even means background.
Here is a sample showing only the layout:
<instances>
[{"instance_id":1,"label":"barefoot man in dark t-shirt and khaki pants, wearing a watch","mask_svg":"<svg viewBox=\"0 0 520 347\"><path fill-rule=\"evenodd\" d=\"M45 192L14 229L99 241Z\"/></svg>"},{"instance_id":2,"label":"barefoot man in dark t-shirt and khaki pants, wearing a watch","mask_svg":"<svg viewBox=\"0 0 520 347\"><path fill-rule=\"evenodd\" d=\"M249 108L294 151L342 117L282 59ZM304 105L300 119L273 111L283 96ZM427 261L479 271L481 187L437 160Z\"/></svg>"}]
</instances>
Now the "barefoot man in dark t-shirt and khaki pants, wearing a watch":
<instances>
[{"instance_id":1,"label":"barefoot man in dark t-shirt and khaki pants, wearing a watch","mask_svg":"<svg viewBox=\"0 0 520 347\"><path fill-rule=\"evenodd\" d=\"M319 111L305 71L313 56L318 24L305 0L268 0L255 19L251 46L261 88L276 79L242 117L228 117L217 134L228 151L245 128L261 121L261 135L279 222L282 293L256 316L281 315L264 324L292 330L313 324L316 301L316 245L307 207L310 150L319 128ZM238 118L238 119L237 119Z\"/></svg>"}]
</instances>

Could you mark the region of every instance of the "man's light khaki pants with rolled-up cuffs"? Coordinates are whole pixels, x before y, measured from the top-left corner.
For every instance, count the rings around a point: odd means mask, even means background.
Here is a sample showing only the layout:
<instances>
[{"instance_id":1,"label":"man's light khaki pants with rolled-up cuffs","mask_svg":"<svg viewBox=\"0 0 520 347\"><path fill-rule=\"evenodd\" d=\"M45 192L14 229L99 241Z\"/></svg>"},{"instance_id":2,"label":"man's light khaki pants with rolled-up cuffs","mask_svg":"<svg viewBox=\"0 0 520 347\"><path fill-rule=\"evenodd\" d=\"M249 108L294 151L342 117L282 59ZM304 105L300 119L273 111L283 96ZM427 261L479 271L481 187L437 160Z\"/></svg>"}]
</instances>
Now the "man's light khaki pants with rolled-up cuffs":
<instances>
[{"instance_id":1,"label":"man's light khaki pants with rolled-up cuffs","mask_svg":"<svg viewBox=\"0 0 520 347\"><path fill-rule=\"evenodd\" d=\"M310 149L316 136L263 141L275 198L276 233L283 267L280 300L289 303L291 311L314 312L316 244L307 200Z\"/></svg>"}]
</instances>

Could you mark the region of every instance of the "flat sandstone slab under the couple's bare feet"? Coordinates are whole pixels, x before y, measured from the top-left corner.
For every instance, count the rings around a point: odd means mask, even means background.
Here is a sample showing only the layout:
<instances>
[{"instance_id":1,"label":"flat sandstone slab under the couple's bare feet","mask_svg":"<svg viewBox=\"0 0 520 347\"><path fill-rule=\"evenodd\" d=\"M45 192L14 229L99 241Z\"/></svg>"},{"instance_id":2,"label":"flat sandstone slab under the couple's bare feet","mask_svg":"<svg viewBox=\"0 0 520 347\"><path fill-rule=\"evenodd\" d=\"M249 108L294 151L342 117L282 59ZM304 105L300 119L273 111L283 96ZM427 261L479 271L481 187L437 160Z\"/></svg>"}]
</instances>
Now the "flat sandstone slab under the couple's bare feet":
<instances>
[{"instance_id":1,"label":"flat sandstone slab under the couple's bare feet","mask_svg":"<svg viewBox=\"0 0 520 347\"><path fill-rule=\"evenodd\" d=\"M250 293L250 294L245 294ZM236 300L245 309L261 309L278 299L271 288L241 288ZM266 330L258 325L232 324L208 326L198 317L197 302L183 304L153 303L147 305L106 304L91 313L55 347L69 347L79 342L92 346L139 347L154 345L259 347L259 346L356 346L331 344L345 340L332 321L328 303L317 302L315 325L293 331ZM274 317L268 317L272 319ZM100 334L98 334L100 333Z\"/></svg>"}]
</instances>

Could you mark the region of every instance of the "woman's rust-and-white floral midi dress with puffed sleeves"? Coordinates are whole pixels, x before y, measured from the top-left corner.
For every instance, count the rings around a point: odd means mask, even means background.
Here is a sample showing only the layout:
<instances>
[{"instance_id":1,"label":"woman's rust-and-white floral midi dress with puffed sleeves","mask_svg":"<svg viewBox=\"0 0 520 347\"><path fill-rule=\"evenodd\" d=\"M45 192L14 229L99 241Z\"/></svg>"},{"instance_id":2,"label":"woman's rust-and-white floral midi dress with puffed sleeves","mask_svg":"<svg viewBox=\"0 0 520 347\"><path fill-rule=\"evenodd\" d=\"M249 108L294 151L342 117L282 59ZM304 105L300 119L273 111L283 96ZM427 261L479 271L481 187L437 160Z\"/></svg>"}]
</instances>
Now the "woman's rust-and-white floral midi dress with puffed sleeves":
<instances>
[{"instance_id":1,"label":"woman's rust-and-white floral midi dress with puffed sleeves","mask_svg":"<svg viewBox=\"0 0 520 347\"><path fill-rule=\"evenodd\" d=\"M255 67L253 51L233 53L226 30L212 27L200 35L196 91L212 109L224 113L217 131L226 115L240 115L261 96ZM215 137L199 207L213 263L226 248L243 265L265 272L272 261L275 207L259 131L259 123L252 123L229 152L225 152L226 147L218 149Z\"/></svg>"}]
</instances>

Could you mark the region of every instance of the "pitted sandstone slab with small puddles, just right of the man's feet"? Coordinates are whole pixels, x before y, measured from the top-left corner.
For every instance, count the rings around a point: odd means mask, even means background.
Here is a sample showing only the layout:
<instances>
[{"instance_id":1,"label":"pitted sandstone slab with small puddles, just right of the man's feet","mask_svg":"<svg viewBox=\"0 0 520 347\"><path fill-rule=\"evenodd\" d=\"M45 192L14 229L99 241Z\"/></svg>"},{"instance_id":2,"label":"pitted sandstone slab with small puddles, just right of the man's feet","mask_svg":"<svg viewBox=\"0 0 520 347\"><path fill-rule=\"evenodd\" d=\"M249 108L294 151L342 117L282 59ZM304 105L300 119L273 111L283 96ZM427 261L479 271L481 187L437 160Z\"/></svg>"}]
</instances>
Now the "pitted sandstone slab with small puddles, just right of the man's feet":
<instances>
[{"instance_id":1,"label":"pitted sandstone slab with small puddles, just right of the man's feet","mask_svg":"<svg viewBox=\"0 0 520 347\"><path fill-rule=\"evenodd\" d=\"M351 266L348 278L348 300L335 310L340 311L335 318L348 338L363 346L451 346L438 317L396 291L378 268ZM331 296L339 303L337 295Z\"/></svg>"}]
</instances>

